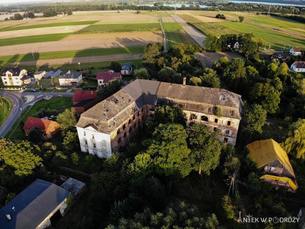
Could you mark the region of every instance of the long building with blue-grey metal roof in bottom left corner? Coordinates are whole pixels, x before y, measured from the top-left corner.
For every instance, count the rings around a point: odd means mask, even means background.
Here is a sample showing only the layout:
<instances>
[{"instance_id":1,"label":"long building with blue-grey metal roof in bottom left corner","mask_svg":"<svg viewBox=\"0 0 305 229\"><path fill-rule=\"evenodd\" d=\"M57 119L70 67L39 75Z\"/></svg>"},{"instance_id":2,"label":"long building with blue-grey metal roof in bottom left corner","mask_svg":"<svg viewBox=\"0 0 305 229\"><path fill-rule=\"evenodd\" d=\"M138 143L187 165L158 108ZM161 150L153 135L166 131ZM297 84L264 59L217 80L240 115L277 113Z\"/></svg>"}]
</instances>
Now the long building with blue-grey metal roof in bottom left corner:
<instances>
[{"instance_id":1,"label":"long building with blue-grey metal roof in bottom left corner","mask_svg":"<svg viewBox=\"0 0 305 229\"><path fill-rule=\"evenodd\" d=\"M0 228L35 229L69 195L56 184L37 179L0 209Z\"/></svg>"}]
</instances>

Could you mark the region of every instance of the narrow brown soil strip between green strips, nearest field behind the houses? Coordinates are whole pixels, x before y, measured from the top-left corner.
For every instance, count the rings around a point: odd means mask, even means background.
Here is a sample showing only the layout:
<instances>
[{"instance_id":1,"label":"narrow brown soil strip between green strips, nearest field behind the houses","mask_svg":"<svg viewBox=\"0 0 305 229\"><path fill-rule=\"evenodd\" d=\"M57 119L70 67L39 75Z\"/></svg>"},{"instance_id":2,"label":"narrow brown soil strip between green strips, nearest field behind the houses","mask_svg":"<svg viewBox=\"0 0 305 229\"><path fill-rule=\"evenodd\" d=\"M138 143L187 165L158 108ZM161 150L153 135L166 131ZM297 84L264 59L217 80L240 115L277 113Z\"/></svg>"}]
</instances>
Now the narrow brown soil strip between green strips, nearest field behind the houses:
<instances>
[{"instance_id":1,"label":"narrow brown soil strip between green strips, nearest field behind the houses","mask_svg":"<svg viewBox=\"0 0 305 229\"><path fill-rule=\"evenodd\" d=\"M70 57L70 58L58 58L50 60L36 60L36 61L24 61L10 63L9 65L58 65L58 64L77 64L81 63L91 63L91 62L105 62L114 60L137 60L142 59L143 53L133 53L133 54L117 54L117 55L107 55L107 56L86 56L86 57Z\"/></svg>"}]
</instances>

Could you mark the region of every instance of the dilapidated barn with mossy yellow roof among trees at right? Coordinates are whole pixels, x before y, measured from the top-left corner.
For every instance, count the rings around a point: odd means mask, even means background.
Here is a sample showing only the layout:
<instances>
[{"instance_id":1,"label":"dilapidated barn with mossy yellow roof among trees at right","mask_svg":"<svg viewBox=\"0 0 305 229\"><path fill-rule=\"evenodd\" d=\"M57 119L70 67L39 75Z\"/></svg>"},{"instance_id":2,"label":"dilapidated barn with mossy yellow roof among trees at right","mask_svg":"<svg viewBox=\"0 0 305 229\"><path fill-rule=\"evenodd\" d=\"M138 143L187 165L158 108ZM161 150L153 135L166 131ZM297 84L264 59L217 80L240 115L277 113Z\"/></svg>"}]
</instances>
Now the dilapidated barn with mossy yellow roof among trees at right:
<instances>
[{"instance_id":1,"label":"dilapidated barn with mossy yellow roof among trees at right","mask_svg":"<svg viewBox=\"0 0 305 229\"><path fill-rule=\"evenodd\" d=\"M264 175L260 179L272 184L277 190L296 192L298 185L289 158L285 150L273 139L259 140L247 145L249 156L257 162Z\"/></svg>"}]
</instances>

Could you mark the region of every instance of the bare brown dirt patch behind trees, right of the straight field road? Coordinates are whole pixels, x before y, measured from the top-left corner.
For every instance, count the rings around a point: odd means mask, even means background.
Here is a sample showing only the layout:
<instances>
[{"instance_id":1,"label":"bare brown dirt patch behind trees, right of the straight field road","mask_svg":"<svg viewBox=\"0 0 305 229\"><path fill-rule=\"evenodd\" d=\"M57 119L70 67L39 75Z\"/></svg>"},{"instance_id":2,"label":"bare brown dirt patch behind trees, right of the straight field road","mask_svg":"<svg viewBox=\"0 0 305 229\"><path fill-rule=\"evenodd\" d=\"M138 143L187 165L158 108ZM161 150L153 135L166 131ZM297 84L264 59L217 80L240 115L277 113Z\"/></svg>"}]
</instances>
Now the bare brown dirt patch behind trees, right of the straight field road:
<instances>
[{"instance_id":1,"label":"bare brown dirt patch behind trees, right of the straight field road","mask_svg":"<svg viewBox=\"0 0 305 229\"><path fill-rule=\"evenodd\" d=\"M210 53L210 52L203 52L203 53L196 53L195 57L197 60L200 60L203 67L213 67L213 64L219 60L221 57L228 57L228 60L231 61L233 58L241 58L242 60L246 60L245 57L240 55L239 53L231 53L231 52L217 52L217 53Z\"/></svg>"}]
</instances>

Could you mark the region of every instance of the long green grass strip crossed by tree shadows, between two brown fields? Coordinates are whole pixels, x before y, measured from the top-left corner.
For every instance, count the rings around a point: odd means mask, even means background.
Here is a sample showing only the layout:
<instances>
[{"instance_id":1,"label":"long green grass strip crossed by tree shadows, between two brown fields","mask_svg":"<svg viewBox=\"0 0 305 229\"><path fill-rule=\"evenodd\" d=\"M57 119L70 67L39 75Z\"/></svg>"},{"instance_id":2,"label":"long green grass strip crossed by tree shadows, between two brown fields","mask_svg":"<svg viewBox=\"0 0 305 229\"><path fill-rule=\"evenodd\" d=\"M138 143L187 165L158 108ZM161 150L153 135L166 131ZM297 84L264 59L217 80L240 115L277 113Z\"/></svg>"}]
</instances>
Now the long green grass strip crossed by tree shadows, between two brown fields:
<instances>
[{"instance_id":1,"label":"long green grass strip crossed by tree shadows, between two brown fields","mask_svg":"<svg viewBox=\"0 0 305 229\"><path fill-rule=\"evenodd\" d=\"M83 56L104 56L115 54L129 54L129 53L143 53L144 46L138 47L124 47L124 48L111 48L111 49L84 49L84 50L70 50L60 52L46 52L46 53L34 53L35 60L50 60L56 58L66 57L83 57ZM2 64L15 63L22 61L33 60L32 53L1 56Z\"/></svg>"}]
</instances>

